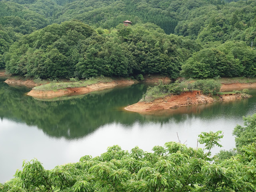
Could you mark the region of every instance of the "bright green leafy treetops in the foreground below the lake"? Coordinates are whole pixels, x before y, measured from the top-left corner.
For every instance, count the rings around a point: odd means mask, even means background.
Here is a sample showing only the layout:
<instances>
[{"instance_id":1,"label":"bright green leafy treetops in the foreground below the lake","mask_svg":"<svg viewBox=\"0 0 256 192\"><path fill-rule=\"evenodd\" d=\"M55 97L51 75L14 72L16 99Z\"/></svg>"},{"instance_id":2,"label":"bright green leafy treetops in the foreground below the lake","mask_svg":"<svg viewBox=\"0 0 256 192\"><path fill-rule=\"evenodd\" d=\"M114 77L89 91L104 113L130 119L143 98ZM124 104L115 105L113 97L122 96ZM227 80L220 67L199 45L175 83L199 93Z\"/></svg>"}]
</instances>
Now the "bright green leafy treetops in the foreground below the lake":
<instances>
[{"instance_id":1,"label":"bright green leafy treetops in the foreground below the lake","mask_svg":"<svg viewBox=\"0 0 256 192\"><path fill-rule=\"evenodd\" d=\"M45 170L36 159L24 161L15 178L0 184L0 191L252 192L256 185L255 125L256 114L244 118L244 126L236 126L233 132L236 150L212 158L211 149L221 146L221 131L199 134L204 149L167 142L154 146L152 152L138 146L128 152L116 145L100 156L86 155L52 170Z\"/></svg>"}]
</instances>

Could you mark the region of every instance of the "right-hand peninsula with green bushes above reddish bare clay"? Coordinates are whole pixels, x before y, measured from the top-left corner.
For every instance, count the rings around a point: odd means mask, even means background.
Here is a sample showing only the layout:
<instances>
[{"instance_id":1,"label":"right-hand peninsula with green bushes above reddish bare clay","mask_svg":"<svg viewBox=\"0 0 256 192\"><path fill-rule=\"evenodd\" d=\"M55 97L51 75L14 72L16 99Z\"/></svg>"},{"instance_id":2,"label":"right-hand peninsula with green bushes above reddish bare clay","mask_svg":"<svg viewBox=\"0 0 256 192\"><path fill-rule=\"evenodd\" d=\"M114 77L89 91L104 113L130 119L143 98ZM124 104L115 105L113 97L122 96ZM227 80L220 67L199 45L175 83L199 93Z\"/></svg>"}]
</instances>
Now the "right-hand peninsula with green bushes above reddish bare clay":
<instances>
[{"instance_id":1,"label":"right-hand peninsula with green bushes above reddish bare clay","mask_svg":"<svg viewBox=\"0 0 256 192\"><path fill-rule=\"evenodd\" d=\"M176 81L173 84L148 88L142 99L136 104L129 105L124 109L133 112L147 112L152 110L174 109L180 106L212 103L218 101L227 101L241 98L250 98L246 94L248 89L241 91L223 93L230 88L252 88L256 83L251 84L220 84L217 80L197 80L197 81Z\"/></svg>"}]
</instances>

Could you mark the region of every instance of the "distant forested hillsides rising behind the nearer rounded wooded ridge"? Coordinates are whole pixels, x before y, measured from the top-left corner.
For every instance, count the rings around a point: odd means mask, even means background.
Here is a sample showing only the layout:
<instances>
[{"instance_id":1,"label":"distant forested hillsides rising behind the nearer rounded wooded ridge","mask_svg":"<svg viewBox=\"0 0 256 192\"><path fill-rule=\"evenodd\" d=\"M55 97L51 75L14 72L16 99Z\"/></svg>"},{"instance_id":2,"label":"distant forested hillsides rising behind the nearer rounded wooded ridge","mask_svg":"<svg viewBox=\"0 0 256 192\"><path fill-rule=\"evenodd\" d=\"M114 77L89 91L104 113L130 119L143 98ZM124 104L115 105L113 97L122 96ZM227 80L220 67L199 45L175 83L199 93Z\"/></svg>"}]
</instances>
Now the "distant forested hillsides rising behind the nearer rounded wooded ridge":
<instances>
[{"instance_id":1,"label":"distant forested hillsides rising behind the nearer rounded wooded ridge","mask_svg":"<svg viewBox=\"0 0 256 192\"><path fill-rule=\"evenodd\" d=\"M1 18L6 21L6 19L10 20L8 17L18 17L23 19L24 26L30 23L30 26L36 29L53 22L60 23L72 19L109 29L129 19L134 24L151 22L160 26L166 34L175 32L191 38L197 38L198 35L202 38L206 36L205 30L217 26L221 29L216 28L212 31L212 33L219 31L219 34L212 34L213 37L222 35L221 32L225 33L220 39L204 41L227 40L234 38L234 35L242 35L241 30L254 26L256 7L254 0L230 3L223 0L2 0L0 2ZM3 20L0 23L6 25ZM20 23L16 21L16 24ZM7 25L15 26L15 21Z\"/></svg>"}]
</instances>

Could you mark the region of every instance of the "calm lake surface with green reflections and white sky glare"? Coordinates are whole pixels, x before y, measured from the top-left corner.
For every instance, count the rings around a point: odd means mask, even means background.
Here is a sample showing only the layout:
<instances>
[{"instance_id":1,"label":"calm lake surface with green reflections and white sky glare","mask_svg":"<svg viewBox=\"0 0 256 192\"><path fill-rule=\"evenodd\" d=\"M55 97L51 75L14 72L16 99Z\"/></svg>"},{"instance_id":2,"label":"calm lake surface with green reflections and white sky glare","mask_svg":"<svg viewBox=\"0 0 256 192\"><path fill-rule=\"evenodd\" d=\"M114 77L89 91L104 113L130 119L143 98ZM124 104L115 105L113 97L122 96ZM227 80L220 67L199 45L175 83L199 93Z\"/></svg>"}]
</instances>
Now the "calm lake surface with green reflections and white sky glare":
<instances>
[{"instance_id":1,"label":"calm lake surface with green reflections and white sky glare","mask_svg":"<svg viewBox=\"0 0 256 192\"><path fill-rule=\"evenodd\" d=\"M58 101L26 96L26 88L0 80L0 183L12 178L23 160L37 158L44 168L77 162L81 156L97 156L108 146L124 150L177 141L196 147L200 132L222 130L223 148L234 148L232 130L242 116L256 112L254 97L138 114L123 110L140 100L147 86L118 87ZM203 147L203 146L200 146Z\"/></svg>"}]
</instances>

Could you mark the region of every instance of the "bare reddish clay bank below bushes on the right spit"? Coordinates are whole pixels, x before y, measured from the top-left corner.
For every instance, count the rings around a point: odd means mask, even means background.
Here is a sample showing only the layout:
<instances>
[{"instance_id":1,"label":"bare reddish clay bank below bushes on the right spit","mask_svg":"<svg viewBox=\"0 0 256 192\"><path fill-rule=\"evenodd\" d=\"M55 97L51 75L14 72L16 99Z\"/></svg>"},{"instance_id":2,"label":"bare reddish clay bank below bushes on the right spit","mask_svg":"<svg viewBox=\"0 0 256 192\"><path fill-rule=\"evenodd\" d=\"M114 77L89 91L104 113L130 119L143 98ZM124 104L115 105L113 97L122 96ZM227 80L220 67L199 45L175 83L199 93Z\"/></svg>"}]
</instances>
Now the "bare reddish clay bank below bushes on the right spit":
<instances>
[{"instance_id":1,"label":"bare reddish clay bank below bushes on the right spit","mask_svg":"<svg viewBox=\"0 0 256 192\"><path fill-rule=\"evenodd\" d=\"M201 94L200 91L184 92L180 95L169 95L164 98L158 98L153 102L138 102L136 104L127 106L125 109L134 112L145 112L161 109L172 109L180 106L212 103L216 101L227 101L239 98L248 98L247 94L225 94L219 98L212 98Z\"/></svg>"}]
</instances>

